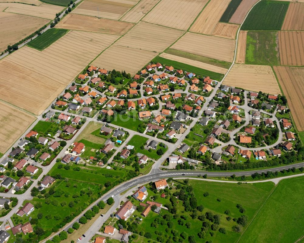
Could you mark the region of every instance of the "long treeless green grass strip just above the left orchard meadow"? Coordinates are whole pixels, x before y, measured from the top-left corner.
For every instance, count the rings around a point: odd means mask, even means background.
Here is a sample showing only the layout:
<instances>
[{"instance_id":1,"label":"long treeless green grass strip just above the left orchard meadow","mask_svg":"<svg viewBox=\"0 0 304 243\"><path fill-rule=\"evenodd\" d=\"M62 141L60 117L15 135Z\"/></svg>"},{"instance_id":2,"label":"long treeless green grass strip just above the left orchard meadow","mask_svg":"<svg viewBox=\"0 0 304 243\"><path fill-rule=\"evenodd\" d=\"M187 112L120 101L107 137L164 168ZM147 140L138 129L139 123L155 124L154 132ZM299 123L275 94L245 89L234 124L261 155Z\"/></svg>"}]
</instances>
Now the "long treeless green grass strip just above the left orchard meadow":
<instances>
[{"instance_id":1,"label":"long treeless green grass strip just above the left orchard meadow","mask_svg":"<svg viewBox=\"0 0 304 243\"><path fill-rule=\"evenodd\" d=\"M77 165L72 165L71 169L66 170L64 168L58 169L58 164L55 164L50 170L50 175L60 174L61 176L69 179L74 179L80 182L91 182L95 184L105 184L105 182L114 182L118 178L123 179L127 172L123 169L109 170L106 168L99 168L93 166L81 167L80 171L75 171L73 168Z\"/></svg>"}]
</instances>

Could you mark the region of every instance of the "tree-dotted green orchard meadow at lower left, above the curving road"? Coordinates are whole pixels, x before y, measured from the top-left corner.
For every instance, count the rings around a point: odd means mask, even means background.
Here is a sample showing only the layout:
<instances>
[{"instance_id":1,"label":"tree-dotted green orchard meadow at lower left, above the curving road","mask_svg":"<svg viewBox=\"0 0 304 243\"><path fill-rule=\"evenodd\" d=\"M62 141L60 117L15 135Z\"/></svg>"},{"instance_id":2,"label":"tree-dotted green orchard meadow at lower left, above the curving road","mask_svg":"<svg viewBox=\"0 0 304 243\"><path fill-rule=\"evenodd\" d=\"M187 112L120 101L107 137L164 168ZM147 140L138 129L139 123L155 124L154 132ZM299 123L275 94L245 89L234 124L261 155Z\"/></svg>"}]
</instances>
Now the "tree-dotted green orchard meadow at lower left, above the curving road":
<instances>
[{"instance_id":1,"label":"tree-dotted green orchard meadow at lower left, above the curving road","mask_svg":"<svg viewBox=\"0 0 304 243\"><path fill-rule=\"evenodd\" d=\"M70 183L70 186L67 187L67 183ZM74 186L76 185L76 187ZM65 181L58 181L55 183L54 185L55 187L55 192L56 190L60 189L63 191L63 194L59 197L55 197L53 195L51 195L49 197L49 199L51 200L50 204L45 203L45 198L34 198L31 201L24 201L24 203L30 202L33 205L35 205L37 202L41 202L42 206L40 208L35 208L35 210L29 215L29 216L23 216L23 217L19 217L16 214L14 214L12 216L12 221L13 223L16 224L24 224L27 221L29 221L29 217L31 218L37 218L37 214L38 213L42 213L43 217L41 219L38 219L38 224L33 225L33 227L38 226L38 227L42 227L45 231L45 233L43 234L42 238L46 238L47 236L49 236L52 233L52 228L53 227L57 227L59 224L61 226L64 226L65 223L62 222L62 220L64 219L64 217L71 215L72 213L74 213L77 209L79 209L80 207L87 207L87 203L90 203L90 200L92 199L92 197L94 198L98 198L98 192L100 191L100 186L98 185L92 185L86 182L76 182L73 180L70 180L69 182L65 182ZM79 193L81 189L85 189L85 191L88 191L88 188L91 189L92 191L92 195L87 195L87 194L83 194L82 196L77 197L77 199L79 200L78 203L75 203L73 207L69 207L68 204L71 201L74 201L75 198L73 198L73 195L76 193ZM69 196L65 196L64 194L68 193ZM57 202L54 202L57 201ZM61 206L62 202L66 202L66 204L64 206ZM55 204L55 205L54 205ZM51 218L47 219L46 216L50 214ZM55 216L60 217L60 219L55 219ZM24 240L26 242L26 238L28 238L28 236L26 235L24 237Z\"/></svg>"}]
</instances>

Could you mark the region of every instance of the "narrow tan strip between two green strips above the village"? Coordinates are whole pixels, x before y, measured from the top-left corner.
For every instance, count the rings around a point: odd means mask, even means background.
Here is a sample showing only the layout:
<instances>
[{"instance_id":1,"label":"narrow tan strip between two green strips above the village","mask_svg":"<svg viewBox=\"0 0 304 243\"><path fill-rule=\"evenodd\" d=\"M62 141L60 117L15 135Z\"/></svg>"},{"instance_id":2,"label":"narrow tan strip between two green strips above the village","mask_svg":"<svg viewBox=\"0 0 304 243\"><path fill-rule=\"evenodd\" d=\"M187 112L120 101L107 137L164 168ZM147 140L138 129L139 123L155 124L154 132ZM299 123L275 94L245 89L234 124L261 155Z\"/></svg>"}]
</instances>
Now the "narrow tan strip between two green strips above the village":
<instances>
[{"instance_id":1,"label":"narrow tan strip between two green strips above the village","mask_svg":"<svg viewBox=\"0 0 304 243\"><path fill-rule=\"evenodd\" d=\"M220 68L208 63L204 63L204 62L200 62L200 61L195 61L195 60L191 60L185 57L179 57L179 56L175 56L175 55L171 55L168 53L162 53L159 55L160 57L164 57L166 59L172 60L172 61L178 61L181 63L185 63L194 67L198 67L198 68L202 68L208 71L212 71L212 72L216 72L216 73L222 73L225 74L228 69L227 68Z\"/></svg>"}]
</instances>

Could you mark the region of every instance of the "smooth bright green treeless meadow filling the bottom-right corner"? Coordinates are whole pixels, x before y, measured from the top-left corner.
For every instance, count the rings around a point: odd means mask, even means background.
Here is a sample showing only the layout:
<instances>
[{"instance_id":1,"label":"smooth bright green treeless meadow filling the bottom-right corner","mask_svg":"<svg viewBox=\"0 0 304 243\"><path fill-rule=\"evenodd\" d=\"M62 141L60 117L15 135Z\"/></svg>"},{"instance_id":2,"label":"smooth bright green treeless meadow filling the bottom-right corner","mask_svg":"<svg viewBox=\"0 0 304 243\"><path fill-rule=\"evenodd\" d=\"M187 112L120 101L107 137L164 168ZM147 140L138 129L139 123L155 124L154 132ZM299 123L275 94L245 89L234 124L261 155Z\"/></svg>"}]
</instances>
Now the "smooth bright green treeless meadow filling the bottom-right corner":
<instances>
[{"instance_id":1,"label":"smooth bright green treeless meadow filling the bottom-right corner","mask_svg":"<svg viewBox=\"0 0 304 243\"><path fill-rule=\"evenodd\" d=\"M296 242L302 237L303 183L303 176L279 182L239 242Z\"/></svg>"}]
</instances>

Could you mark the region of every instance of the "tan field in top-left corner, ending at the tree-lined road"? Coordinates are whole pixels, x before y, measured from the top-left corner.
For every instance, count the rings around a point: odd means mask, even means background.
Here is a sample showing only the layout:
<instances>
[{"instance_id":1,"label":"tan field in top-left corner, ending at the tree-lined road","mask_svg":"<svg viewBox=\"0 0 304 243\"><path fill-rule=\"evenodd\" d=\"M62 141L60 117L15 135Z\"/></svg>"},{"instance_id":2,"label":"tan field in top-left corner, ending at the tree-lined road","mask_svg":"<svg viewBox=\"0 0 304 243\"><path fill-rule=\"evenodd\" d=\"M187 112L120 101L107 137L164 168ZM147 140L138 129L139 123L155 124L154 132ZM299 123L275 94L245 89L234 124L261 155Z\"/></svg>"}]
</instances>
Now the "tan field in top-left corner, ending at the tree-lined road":
<instances>
[{"instance_id":1,"label":"tan field in top-left corner, ending at the tree-lined road","mask_svg":"<svg viewBox=\"0 0 304 243\"><path fill-rule=\"evenodd\" d=\"M56 13L60 12L64 8L62 6L45 3L39 6L22 3L0 3L0 8L2 8L2 6L7 7L4 12L19 13L43 19L54 19Z\"/></svg>"}]
</instances>

